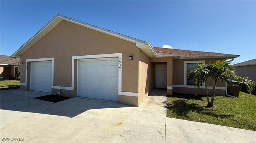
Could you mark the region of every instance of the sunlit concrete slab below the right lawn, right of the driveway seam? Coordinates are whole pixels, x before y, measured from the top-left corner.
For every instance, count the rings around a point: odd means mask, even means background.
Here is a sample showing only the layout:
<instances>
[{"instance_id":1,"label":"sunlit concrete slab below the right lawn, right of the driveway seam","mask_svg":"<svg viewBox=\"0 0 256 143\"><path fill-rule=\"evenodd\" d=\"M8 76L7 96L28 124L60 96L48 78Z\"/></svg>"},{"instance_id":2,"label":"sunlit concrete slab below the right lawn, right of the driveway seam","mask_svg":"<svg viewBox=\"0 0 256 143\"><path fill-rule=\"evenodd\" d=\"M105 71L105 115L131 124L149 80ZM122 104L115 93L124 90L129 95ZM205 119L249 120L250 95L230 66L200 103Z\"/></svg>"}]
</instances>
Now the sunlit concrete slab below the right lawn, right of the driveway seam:
<instances>
[{"instance_id":1,"label":"sunlit concrete slab below the right lawn, right of the driveway seam","mask_svg":"<svg viewBox=\"0 0 256 143\"><path fill-rule=\"evenodd\" d=\"M256 143L256 132L182 119L166 119L166 143Z\"/></svg>"}]
</instances>

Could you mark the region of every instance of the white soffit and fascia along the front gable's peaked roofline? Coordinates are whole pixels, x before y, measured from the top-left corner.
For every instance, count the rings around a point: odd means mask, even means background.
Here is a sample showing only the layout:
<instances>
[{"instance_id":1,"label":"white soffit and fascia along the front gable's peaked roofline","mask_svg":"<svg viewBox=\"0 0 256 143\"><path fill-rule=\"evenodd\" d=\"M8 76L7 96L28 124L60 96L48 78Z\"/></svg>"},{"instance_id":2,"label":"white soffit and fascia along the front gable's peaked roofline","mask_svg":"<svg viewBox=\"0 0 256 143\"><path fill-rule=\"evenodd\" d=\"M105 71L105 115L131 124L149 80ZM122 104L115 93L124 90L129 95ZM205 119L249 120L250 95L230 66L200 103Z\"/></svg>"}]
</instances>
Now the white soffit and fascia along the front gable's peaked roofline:
<instances>
[{"instance_id":1,"label":"white soffit and fascia along the front gable's peaked roofline","mask_svg":"<svg viewBox=\"0 0 256 143\"><path fill-rule=\"evenodd\" d=\"M109 34L111 36L115 36L117 38L121 38L123 40L127 40L129 42L136 43L136 46L139 47L143 52L145 52L150 58L156 57L156 52L154 51L152 45L149 42L132 38L120 33L115 33L113 31L109 31L107 29L103 29L94 25L86 24L84 22L80 22L78 20L74 20L59 14L57 14L50 22L48 22L42 29L40 29L40 31L38 31L32 38L30 38L30 40L24 43L11 57L20 58L20 55L22 55L25 51L27 51L32 45L34 45L41 38L43 38L43 36L45 36L48 32L50 32L62 20L66 20L73 24L81 25L83 27L87 27L105 34Z\"/></svg>"}]
</instances>

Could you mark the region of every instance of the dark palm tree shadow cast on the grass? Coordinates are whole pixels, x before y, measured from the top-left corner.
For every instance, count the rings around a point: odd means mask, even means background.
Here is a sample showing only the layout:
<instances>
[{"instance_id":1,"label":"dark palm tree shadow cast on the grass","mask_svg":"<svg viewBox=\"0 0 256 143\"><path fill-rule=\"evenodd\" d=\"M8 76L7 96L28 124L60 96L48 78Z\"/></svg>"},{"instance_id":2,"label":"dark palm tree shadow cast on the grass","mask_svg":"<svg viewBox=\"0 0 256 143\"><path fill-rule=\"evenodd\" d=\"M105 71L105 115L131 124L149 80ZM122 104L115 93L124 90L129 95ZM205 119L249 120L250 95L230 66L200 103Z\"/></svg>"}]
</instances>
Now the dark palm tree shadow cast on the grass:
<instances>
[{"instance_id":1,"label":"dark palm tree shadow cast on the grass","mask_svg":"<svg viewBox=\"0 0 256 143\"><path fill-rule=\"evenodd\" d=\"M177 116L180 117L188 117L188 114L190 112L197 112L198 114L204 114L213 116L216 118L229 118L234 117L234 115L228 115L228 114L219 114L217 112L214 112L213 110L207 110L205 107L198 105L197 103L188 103L187 100L179 99L175 100L167 107L167 109L172 110L174 113L176 113Z\"/></svg>"}]
</instances>

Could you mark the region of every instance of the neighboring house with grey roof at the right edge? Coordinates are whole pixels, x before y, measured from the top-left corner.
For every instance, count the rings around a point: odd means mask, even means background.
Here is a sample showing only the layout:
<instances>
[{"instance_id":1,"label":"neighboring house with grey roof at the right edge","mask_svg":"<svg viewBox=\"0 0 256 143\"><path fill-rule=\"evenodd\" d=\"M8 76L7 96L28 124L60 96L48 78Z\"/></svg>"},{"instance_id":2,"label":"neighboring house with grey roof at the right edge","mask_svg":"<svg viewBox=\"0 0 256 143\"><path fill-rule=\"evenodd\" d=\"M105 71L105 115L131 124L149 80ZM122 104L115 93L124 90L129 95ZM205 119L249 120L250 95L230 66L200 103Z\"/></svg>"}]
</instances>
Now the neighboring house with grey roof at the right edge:
<instances>
[{"instance_id":1,"label":"neighboring house with grey roof at the right edge","mask_svg":"<svg viewBox=\"0 0 256 143\"><path fill-rule=\"evenodd\" d=\"M256 59L232 65L237 71L237 75L249 77L256 82Z\"/></svg>"}]
</instances>

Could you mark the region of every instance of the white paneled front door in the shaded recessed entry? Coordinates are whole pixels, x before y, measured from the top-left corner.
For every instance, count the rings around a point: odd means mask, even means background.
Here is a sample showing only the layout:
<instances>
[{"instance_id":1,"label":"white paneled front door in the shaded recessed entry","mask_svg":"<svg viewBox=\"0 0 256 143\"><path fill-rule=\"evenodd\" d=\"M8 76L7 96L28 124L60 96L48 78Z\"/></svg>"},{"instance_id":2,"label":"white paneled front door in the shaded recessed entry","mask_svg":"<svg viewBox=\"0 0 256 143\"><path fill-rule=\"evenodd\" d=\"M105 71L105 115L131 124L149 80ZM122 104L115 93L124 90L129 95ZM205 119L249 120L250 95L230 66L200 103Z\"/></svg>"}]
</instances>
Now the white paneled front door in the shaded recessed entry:
<instances>
[{"instance_id":1,"label":"white paneled front door in the shaded recessed entry","mask_svg":"<svg viewBox=\"0 0 256 143\"><path fill-rule=\"evenodd\" d=\"M167 65L156 65L156 88L167 88Z\"/></svg>"}]
</instances>

